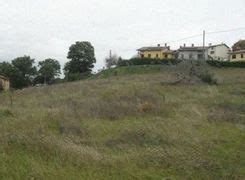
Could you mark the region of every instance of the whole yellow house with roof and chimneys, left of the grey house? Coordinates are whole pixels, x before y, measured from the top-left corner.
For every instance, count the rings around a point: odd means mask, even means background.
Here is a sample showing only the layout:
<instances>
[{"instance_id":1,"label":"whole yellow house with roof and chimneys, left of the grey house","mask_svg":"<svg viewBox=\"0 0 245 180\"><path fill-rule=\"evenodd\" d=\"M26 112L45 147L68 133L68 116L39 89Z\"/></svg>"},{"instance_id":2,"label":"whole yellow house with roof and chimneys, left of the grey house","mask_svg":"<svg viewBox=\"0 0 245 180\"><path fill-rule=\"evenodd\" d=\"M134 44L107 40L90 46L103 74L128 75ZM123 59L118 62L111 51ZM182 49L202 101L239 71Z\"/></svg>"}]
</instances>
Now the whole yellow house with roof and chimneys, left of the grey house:
<instances>
[{"instance_id":1,"label":"whole yellow house with roof and chimneys, left of the grey house","mask_svg":"<svg viewBox=\"0 0 245 180\"><path fill-rule=\"evenodd\" d=\"M173 59L173 51L170 50L170 47L165 44L165 46L157 47L142 47L137 50L138 55L141 58L152 58L152 59Z\"/></svg>"}]
</instances>

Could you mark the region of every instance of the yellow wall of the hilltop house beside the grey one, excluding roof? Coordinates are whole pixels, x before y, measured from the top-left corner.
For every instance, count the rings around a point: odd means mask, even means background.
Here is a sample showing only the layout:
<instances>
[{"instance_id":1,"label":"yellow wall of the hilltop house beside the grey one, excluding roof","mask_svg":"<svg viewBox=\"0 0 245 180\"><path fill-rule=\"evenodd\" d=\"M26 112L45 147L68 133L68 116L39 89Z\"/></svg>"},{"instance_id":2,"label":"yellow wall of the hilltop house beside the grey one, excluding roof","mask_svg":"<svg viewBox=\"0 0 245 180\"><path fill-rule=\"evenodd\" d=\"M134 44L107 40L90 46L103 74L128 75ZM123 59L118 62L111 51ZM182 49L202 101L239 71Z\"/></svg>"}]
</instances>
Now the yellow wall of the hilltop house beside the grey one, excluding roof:
<instances>
[{"instance_id":1,"label":"yellow wall of the hilltop house beside the grey one, excluding roof","mask_svg":"<svg viewBox=\"0 0 245 180\"><path fill-rule=\"evenodd\" d=\"M159 59L173 59L172 53L166 53L164 51L141 51L139 52L140 57L144 58L159 58ZM150 56L149 56L150 55Z\"/></svg>"}]
</instances>

